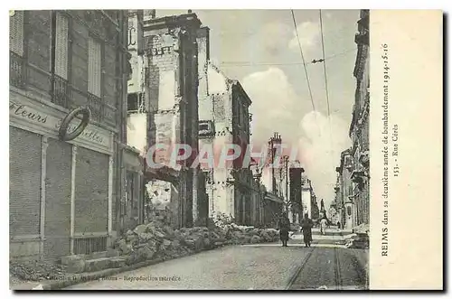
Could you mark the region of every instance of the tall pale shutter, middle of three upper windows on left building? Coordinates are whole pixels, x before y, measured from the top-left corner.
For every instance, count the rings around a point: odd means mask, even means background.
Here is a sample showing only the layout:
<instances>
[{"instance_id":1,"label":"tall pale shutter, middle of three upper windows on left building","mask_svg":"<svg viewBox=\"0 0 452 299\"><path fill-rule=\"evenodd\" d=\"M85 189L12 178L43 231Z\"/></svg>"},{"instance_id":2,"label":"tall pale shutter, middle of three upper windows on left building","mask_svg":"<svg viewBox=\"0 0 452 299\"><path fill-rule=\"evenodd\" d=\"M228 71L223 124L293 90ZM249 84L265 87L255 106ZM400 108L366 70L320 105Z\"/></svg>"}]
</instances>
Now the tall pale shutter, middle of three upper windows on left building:
<instances>
[{"instance_id":1,"label":"tall pale shutter, middle of three upper windows on left building","mask_svg":"<svg viewBox=\"0 0 452 299\"><path fill-rule=\"evenodd\" d=\"M56 14L55 74L62 79L68 79L68 34L68 18L62 14Z\"/></svg>"}]
</instances>

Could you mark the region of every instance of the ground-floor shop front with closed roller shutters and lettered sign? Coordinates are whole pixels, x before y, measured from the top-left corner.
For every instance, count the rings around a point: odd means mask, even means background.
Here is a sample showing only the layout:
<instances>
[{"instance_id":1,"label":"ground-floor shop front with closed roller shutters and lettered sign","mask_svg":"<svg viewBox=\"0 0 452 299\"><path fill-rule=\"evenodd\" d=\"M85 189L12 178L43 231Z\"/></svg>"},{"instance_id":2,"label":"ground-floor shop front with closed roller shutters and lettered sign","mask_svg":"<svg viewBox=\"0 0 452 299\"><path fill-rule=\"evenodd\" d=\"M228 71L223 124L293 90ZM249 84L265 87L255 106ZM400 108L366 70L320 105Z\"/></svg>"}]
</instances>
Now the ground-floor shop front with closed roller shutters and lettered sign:
<instances>
[{"instance_id":1,"label":"ground-floor shop front with closed roller shutters and lettered sign","mask_svg":"<svg viewBox=\"0 0 452 299\"><path fill-rule=\"evenodd\" d=\"M68 110L10 91L10 256L104 251L112 236L114 132L92 122L71 141ZM80 123L71 121L69 132Z\"/></svg>"}]
</instances>

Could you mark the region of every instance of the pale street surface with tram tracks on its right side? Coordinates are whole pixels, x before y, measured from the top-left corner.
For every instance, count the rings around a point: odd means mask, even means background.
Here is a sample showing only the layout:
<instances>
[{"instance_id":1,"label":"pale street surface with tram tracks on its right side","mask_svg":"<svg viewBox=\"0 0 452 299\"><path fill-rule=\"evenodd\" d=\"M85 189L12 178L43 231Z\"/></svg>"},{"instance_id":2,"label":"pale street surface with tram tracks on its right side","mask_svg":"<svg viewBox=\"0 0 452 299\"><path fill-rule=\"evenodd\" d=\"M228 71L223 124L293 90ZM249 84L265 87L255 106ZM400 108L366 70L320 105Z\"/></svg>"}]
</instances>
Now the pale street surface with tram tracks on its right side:
<instances>
[{"instance_id":1,"label":"pale street surface with tram tracks on its right side","mask_svg":"<svg viewBox=\"0 0 452 299\"><path fill-rule=\"evenodd\" d=\"M365 250L328 245L231 246L66 289L284 290L325 286L335 289L338 284L343 289L360 289L364 287L366 263Z\"/></svg>"}]
</instances>

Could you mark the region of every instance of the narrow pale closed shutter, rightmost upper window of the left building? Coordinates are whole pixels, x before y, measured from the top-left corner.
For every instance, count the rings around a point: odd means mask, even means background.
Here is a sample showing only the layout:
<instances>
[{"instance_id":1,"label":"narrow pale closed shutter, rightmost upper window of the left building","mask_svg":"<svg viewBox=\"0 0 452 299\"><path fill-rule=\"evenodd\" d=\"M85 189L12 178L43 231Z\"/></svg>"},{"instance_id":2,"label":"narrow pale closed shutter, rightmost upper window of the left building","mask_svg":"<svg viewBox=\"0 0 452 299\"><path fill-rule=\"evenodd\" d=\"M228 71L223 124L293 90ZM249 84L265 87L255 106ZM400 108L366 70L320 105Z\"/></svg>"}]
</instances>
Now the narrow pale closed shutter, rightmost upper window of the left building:
<instances>
[{"instance_id":1,"label":"narrow pale closed shutter, rightmost upper window of the left building","mask_svg":"<svg viewBox=\"0 0 452 299\"><path fill-rule=\"evenodd\" d=\"M101 53L100 43L93 38L88 42L88 91L100 98Z\"/></svg>"}]
</instances>

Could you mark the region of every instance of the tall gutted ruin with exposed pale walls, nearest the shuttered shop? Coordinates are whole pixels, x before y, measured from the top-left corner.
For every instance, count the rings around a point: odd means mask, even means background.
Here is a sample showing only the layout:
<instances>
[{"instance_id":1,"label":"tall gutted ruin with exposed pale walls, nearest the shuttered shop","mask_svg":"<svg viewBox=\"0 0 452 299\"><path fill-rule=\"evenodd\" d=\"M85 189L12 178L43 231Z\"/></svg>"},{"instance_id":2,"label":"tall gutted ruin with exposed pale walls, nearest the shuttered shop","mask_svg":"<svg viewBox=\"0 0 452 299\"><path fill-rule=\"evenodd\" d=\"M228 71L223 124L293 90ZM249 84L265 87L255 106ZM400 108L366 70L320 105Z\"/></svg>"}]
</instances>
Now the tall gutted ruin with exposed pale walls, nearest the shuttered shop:
<instances>
[{"instance_id":1,"label":"tall gutted ruin with exposed pale walls, nearest the shuttered shop","mask_svg":"<svg viewBox=\"0 0 452 299\"><path fill-rule=\"evenodd\" d=\"M129 26L133 75L128 81L127 144L147 159L146 198L165 211L175 228L206 224L204 180L199 167L191 167L198 153L201 21L191 13L156 18L155 11L129 11ZM193 153L174 164L169 154L181 144ZM148 156L154 145L165 145L166 151ZM149 167L149 158L158 167Z\"/></svg>"}]
</instances>

